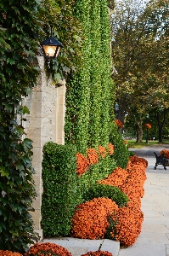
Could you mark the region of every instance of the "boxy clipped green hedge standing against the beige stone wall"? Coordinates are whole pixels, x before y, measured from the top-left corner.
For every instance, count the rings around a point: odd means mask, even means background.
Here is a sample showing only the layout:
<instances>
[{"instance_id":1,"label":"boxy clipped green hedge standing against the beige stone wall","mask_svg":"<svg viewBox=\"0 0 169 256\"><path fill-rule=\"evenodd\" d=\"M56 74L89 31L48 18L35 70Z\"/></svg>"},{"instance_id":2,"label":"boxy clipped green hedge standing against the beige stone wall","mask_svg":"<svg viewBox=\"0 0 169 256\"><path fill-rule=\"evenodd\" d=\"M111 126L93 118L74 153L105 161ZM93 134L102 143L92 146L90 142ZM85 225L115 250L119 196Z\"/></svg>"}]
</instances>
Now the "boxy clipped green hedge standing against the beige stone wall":
<instances>
[{"instance_id":1,"label":"boxy clipped green hedge standing against the beige stone wall","mask_svg":"<svg viewBox=\"0 0 169 256\"><path fill-rule=\"evenodd\" d=\"M81 199L76 175L76 147L47 143L42 161L42 229L44 236L68 236Z\"/></svg>"}]
</instances>

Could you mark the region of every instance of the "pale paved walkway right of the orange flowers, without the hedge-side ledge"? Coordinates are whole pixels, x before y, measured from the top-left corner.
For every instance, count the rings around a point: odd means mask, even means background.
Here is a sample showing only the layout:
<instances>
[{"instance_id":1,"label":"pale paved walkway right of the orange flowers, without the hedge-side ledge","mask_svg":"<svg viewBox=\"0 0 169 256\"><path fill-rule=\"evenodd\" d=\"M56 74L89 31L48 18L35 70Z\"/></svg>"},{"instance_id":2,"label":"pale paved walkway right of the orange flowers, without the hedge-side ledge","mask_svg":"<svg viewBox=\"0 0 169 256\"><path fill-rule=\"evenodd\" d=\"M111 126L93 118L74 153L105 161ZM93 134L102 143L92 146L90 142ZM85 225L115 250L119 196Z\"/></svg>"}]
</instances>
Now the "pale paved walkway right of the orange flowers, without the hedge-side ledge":
<instances>
[{"instance_id":1,"label":"pale paved walkway right of the orange flowers, without the hedge-side ledge","mask_svg":"<svg viewBox=\"0 0 169 256\"><path fill-rule=\"evenodd\" d=\"M118 256L169 256L169 166L155 166L154 151L159 154L169 145L132 149L139 157L148 160L147 180L144 183L142 211L144 223L138 240Z\"/></svg>"}]
</instances>

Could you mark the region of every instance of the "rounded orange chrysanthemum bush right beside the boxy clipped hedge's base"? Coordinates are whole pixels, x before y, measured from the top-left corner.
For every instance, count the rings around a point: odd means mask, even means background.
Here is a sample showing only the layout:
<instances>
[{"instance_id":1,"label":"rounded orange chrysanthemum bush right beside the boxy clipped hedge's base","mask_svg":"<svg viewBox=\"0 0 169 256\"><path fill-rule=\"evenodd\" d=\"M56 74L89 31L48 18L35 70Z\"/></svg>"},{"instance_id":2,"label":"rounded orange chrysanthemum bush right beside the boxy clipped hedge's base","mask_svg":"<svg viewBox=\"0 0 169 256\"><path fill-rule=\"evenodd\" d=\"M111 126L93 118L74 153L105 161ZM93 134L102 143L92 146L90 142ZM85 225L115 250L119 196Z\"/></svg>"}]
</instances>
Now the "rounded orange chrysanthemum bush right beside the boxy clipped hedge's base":
<instances>
[{"instance_id":1,"label":"rounded orange chrysanthemum bush right beside the boxy clipped hedge's base","mask_svg":"<svg viewBox=\"0 0 169 256\"><path fill-rule=\"evenodd\" d=\"M94 198L76 207L72 219L72 237L82 239L104 238L109 225L107 218L118 206L109 198Z\"/></svg>"}]
</instances>

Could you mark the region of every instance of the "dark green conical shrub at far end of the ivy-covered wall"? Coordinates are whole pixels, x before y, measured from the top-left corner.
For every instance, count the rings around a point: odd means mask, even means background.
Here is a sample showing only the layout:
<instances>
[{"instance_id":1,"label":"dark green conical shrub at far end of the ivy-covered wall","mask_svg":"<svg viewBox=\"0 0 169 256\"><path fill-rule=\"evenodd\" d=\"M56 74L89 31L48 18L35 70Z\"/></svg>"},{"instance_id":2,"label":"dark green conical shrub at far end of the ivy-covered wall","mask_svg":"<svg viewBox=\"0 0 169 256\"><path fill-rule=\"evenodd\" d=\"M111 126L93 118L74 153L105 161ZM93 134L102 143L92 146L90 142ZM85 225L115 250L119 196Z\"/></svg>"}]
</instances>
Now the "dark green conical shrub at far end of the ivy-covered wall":
<instances>
[{"instance_id":1,"label":"dark green conical shrub at far end of the ivy-covered wall","mask_svg":"<svg viewBox=\"0 0 169 256\"><path fill-rule=\"evenodd\" d=\"M110 143L115 147L112 157L115 159L117 166L126 169L129 159L128 148L117 130L113 130L110 134Z\"/></svg>"}]
</instances>

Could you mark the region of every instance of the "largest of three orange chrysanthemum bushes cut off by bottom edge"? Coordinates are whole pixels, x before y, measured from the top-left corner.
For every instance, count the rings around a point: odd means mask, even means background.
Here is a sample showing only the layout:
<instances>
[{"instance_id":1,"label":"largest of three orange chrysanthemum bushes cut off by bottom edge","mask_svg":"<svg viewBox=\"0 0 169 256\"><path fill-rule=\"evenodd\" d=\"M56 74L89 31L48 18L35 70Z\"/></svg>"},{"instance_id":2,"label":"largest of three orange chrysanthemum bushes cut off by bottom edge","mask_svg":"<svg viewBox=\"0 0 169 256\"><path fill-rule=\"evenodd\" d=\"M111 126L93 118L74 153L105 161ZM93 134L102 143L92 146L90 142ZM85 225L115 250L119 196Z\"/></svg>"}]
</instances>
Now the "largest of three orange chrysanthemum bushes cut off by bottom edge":
<instances>
[{"instance_id":1,"label":"largest of three orange chrysanthemum bushes cut off by bottom edge","mask_svg":"<svg viewBox=\"0 0 169 256\"><path fill-rule=\"evenodd\" d=\"M52 242L39 242L29 248L25 256L72 256L65 247Z\"/></svg>"}]
</instances>

